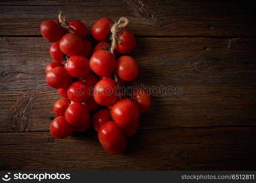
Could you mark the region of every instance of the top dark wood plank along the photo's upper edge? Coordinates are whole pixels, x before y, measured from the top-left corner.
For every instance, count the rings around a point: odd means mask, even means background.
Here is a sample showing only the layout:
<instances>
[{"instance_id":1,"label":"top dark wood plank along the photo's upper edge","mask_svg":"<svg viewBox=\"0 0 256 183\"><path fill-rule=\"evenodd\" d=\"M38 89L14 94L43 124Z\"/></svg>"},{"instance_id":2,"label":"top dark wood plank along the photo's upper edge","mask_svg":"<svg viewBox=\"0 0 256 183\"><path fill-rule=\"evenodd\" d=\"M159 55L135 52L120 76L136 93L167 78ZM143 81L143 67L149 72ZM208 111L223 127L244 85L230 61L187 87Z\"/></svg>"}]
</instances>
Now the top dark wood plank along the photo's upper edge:
<instances>
[{"instance_id":1,"label":"top dark wood plank along the photo's upper edge","mask_svg":"<svg viewBox=\"0 0 256 183\"><path fill-rule=\"evenodd\" d=\"M105 16L126 16L135 35L256 36L255 6L244 0L9 0L0 6L1 35L40 35L40 23L62 10L68 22L81 20L89 30Z\"/></svg>"}]
</instances>

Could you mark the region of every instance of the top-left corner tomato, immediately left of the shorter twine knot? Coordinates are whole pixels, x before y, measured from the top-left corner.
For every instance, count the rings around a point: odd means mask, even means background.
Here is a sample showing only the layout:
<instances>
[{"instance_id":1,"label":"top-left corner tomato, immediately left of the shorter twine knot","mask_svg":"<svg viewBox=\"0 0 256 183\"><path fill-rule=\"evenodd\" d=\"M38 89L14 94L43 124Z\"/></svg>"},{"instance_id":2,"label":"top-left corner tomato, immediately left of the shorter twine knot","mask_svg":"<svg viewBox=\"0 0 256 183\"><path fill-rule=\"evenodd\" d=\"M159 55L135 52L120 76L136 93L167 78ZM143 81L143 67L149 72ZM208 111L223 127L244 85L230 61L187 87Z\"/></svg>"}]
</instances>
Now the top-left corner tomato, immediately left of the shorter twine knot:
<instances>
[{"instance_id":1,"label":"top-left corner tomato, immediately left of the shorter twine knot","mask_svg":"<svg viewBox=\"0 0 256 183\"><path fill-rule=\"evenodd\" d=\"M41 23L40 31L45 40L49 42L58 42L65 31L55 22L46 20Z\"/></svg>"}]
</instances>

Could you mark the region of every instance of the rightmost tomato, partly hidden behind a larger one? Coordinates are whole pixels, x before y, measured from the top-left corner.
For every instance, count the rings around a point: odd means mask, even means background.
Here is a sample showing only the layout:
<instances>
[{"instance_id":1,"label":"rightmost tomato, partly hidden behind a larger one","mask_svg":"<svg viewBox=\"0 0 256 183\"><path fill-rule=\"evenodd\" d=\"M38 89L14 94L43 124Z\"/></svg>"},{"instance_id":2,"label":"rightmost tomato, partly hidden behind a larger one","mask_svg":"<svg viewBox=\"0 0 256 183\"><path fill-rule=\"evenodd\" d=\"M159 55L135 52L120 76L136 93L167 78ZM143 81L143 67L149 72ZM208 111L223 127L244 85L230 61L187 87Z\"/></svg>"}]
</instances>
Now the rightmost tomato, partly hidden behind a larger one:
<instances>
[{"instance_id":1,"label":"rightmost tomato, partly hidden behind a larger one","mask_svg":"<svg viewBox=\"0 0 256 183\"><path fill-rule=\"evenodd\" d=\"M148 111L151 106L151 97L145 90L134 89L131 95L140 108L140 113Z\"/></svg>"}]
</instances>

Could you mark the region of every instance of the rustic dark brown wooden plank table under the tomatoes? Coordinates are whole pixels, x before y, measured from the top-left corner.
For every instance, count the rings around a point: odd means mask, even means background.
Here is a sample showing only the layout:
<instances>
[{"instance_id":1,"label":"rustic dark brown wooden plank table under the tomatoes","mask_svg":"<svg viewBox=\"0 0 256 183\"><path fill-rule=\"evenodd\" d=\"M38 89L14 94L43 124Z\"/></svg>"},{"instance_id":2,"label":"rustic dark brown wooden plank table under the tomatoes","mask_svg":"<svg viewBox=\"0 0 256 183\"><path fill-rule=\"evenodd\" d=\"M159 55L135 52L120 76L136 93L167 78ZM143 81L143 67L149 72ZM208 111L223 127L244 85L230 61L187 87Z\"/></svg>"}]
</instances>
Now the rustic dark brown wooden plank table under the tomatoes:
<instances>
[{"instance_id":1,"label":"rustic dark brown wooden plank table under the tomatoes","mask_svg":"<svg viewBox=\"0 0 256 183\"><path fill-rule=\"evenodd\" d=\"M256 143L256 10L244 0L0 1L1 170L252 170ZM52 61L40 34L62 10L89 30L129 19L140 66L130 86L181 86L153 96L125 153L103 151L90 129L53 138L60 99L45 82ZM90 38L90 40L93 40Z\"/></svg>"}]
</instances>

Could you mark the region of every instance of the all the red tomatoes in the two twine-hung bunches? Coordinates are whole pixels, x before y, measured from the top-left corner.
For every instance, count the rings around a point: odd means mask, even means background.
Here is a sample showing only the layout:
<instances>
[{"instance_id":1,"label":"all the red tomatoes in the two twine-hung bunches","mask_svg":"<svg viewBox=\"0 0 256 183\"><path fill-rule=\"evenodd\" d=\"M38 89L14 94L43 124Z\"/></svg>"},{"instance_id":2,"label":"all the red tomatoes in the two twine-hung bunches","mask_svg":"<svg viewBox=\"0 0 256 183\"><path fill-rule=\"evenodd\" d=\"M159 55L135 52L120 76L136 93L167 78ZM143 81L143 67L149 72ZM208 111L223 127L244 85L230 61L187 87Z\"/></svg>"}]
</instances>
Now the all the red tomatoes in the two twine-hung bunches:
<instances>
[{"instance_id":1,"label":"all the red tomatoes in the two twine-hung bunches","mask_svg":"<svg viewBox=\"0 0 256 183\"><path fill-rule=\"evenodd\" d=\"M130 56L116 59L117 53L133 51L135 37L130 30L120 29L111 53L108 41L114 22L110 18L102 18L93 25L92 36L99 41L94 49L86 39L88 29L84 23L64 24L47 20L40 26L45 40L54 42L50 55L55 61L46 67L46 81L63 97L53 106L57 117L50 125L51 135L66 138L74 130L87 130L92 123L103 149L120 154L126 147L126 137L133 136L138 129L140 113L151 106L151 97L145 90L133 90L130 96L120 94L120 87L125 81L134 80L139 68ZM99 105L105 108L96 112ZM96 113L91 118L89 112Z\"/></svg>"}]
</instances>

